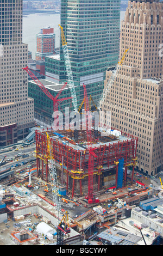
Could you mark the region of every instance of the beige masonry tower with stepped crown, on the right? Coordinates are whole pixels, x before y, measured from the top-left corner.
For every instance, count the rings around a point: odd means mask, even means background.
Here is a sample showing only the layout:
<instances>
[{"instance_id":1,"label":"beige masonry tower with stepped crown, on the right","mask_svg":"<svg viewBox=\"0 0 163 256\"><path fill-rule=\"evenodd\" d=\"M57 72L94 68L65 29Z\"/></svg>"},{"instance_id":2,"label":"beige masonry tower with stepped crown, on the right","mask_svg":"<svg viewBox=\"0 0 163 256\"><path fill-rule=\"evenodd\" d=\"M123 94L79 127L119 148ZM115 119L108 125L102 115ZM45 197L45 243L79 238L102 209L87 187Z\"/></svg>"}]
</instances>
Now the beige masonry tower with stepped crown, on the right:
<instances>
[{"instance_id":1,"label":"beige masonry tower with stepped crown, on the right","mask_svg":"<svg viewBox=\"0 0 163 256\"><path fill-rule=\"evenodd\" d=\"M128 2L120 59L129 51L102 107L105 125L110 111L112 127L139 138L136 169L148 175L163 169L162 25L162 2ZM110 75L108 70L106 83Z\"/></svg>"}]
</instances>

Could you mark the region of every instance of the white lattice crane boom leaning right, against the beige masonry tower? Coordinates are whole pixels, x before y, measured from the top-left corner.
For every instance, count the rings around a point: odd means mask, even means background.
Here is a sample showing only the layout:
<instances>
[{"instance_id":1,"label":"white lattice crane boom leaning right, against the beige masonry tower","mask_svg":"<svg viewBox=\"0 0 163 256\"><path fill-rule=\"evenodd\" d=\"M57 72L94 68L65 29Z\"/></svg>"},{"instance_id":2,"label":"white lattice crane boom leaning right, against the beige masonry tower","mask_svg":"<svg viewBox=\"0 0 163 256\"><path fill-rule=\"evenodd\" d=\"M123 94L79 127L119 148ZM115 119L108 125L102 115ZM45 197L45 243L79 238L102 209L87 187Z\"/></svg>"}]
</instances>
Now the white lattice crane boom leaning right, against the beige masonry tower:
<instances>
[{"instance_id":1,"label":"white lattice crane boom leaning right, against the beige masonry tower","mask_svg":"<svg viewBox=\"0 0 163 256\"><path fill-rule=\"evenodd\" d=\"M120 69L121 69L121 65L123 63L123 60L126 56L126 53L129 51L129 49L127 49L124 53L123 53L123 57L122 59L120 60L120 62L118 62L118 64L116 65L115 67L115 70L112 72L112 75L108 81L108 83L106 84L104 90L103 90L103 93L101 95L101 97L99 98L99 101L98 101L98 105L97 105L97 108L100 109L101 106L102 106L102 103L104 102L106 96L108 95L111 87L112 87L112 84L114 83L114 80L115 80L115 77L116 75L119 73Z\"/></svg>"}]
</instances>

